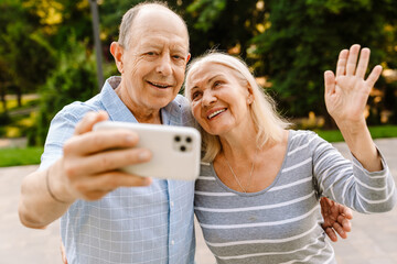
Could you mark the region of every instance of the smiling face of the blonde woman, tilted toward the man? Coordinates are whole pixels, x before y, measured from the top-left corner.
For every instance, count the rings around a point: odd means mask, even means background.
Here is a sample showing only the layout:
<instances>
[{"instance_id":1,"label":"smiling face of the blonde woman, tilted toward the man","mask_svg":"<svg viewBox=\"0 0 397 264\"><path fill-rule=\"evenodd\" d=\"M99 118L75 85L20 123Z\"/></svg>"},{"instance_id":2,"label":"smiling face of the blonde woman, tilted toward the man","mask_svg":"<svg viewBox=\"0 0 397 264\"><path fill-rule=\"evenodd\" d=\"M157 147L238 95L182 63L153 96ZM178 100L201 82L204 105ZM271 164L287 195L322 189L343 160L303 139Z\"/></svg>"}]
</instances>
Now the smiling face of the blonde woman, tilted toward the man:
<instances>
[{"instance_id":1,"label":"smiling face of the blonde woman, tilted toward the man","mask_svg":"<svg viewBox=\"0 0 397 264\"><path fill-rule=\"evenodd\" d=\"M189 76L192 111L201 127L214 135L245 129L251 121L249 105L253 96L237 73L215 63L201 65Z\"/></svg>"}]
</instances>

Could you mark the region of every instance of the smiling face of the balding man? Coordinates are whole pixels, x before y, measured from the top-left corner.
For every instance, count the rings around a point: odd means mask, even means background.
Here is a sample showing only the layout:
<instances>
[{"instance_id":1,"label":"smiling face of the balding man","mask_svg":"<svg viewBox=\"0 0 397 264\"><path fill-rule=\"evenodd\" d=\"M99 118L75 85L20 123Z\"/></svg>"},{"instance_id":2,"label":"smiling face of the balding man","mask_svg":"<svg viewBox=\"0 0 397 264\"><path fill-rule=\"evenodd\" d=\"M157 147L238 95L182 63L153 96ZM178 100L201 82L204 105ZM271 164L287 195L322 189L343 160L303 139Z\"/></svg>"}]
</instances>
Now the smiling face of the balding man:
<instances>
[{"instance_id":1,"label":"smiling face of the balding man","mask_svg":"<svg viewBox=\"0 0 397 264\"><path fill-rule=\"evenodd\" d=\"M141 10L130 30L121 57L121 99L135 112L158 111L182 87L190 58L187 32L175 14L162 9Z\"/></svg>"}]
</instances>

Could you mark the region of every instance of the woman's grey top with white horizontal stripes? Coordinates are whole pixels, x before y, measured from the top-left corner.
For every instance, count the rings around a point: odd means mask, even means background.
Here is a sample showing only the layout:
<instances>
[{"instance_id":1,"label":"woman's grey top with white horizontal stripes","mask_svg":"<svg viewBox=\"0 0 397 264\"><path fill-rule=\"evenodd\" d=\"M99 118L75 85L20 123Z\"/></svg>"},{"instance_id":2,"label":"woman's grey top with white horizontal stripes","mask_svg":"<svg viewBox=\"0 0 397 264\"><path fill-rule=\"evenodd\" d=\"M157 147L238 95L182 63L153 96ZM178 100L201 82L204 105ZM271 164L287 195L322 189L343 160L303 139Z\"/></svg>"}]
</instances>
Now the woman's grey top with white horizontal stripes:
<instances>
[{"instance_id":1,"label":"woman's grey top with white horizontal stripes","mask_svg":"<svg viewBox=\"0 0 397 264\"><path fill-rule=\"evenodd\" d=\"M319 197L366 213L390 210L395 184L382 162L368 173L315 133L291 130L281 169L259 193L233 190L202 164L194 209L206 244L217 263L335 263Z\"/></svg>"}]
</instances>

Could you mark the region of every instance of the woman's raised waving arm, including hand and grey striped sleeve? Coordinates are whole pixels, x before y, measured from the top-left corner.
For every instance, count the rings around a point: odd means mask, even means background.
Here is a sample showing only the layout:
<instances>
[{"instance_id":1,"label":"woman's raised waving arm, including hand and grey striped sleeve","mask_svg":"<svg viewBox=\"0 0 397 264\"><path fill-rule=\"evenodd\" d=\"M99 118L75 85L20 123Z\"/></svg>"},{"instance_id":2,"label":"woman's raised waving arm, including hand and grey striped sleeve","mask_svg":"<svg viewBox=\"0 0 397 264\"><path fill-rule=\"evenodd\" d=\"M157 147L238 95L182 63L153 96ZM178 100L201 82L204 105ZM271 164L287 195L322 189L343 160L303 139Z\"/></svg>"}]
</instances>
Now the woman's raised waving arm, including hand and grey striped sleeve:
<instances>
[{"instance_id":1,"label":"woman's raised waving arm, including hand and grey striped sleeve","mask_svg":"<svg viewBox=\"0 0 397 264\"><path fill-rule=\"evenodd\" d=\"M395 184L373 142L364 116L382 67L374 67L364 79L371 52L363 48L360 53L360 50L357 44L348 51L343 50L335 75L331 70L324 74L326 110L342 132L353 155L353 165L331 144L319 140L313 170L322 195L357 211L382 212L396 204Z\"/></svg>"}]
</instances>

